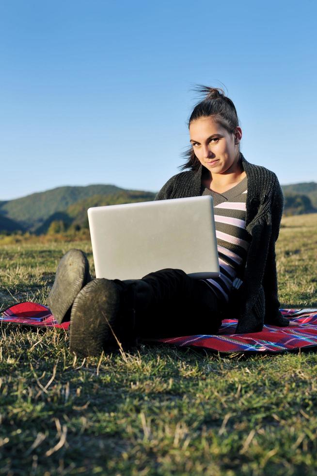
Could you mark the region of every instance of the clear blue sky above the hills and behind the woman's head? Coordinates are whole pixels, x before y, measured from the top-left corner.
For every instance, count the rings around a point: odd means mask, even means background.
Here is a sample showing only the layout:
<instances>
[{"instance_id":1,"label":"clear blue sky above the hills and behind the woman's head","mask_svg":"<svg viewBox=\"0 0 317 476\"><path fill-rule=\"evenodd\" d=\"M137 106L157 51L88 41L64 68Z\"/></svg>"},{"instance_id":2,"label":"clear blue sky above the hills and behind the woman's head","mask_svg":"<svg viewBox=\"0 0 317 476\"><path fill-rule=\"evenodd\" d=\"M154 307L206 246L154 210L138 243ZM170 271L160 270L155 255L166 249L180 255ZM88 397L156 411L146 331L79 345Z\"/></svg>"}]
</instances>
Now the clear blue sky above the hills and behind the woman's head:
<instances>
[{"instance_id":1,"label":"clear blue sky above the hills and behind the woman's head","mask_svg":"<svg viewBox=\"0 0 317 476\"><path fill-rule=\"evenodd\" d=\"M0 0L0 200L158 190L183 162L194 84L226 86L247 160L317 181L316 5Z\"/></svg>"}]
</instances>

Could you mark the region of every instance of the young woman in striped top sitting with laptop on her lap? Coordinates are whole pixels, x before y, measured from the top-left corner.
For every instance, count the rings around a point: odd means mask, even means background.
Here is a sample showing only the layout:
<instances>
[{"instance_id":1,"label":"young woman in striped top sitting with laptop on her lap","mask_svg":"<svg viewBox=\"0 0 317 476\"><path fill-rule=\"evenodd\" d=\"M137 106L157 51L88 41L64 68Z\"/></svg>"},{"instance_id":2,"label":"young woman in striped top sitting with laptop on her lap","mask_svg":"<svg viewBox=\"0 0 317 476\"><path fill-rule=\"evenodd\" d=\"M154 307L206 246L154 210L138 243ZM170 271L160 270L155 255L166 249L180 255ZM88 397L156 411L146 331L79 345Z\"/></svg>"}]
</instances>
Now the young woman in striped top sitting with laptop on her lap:
<instances>
[{"instance_id":1,"label":"young woman in striped top sitting with laptop on her lap","mask_svg":"<svg viewBox=\"0 0 317 476\"><path fill-rule=\"evenodd\" d=\"M220 277L195 280L160 270L139 280L92 280L86 256L63 256L48 305L59 322L71 321L70 350L100 354L137 338L215 334L222 319L238 318L237 333L264 323L288 325L279 311L275 241L283 211L276 175L240 153L242 131L233 102L221 89L202 86L203 101L189 120L185 171L156 200L212 195ZM208 250L206 250L208 253Z\"/></svg>"}]
</instances>

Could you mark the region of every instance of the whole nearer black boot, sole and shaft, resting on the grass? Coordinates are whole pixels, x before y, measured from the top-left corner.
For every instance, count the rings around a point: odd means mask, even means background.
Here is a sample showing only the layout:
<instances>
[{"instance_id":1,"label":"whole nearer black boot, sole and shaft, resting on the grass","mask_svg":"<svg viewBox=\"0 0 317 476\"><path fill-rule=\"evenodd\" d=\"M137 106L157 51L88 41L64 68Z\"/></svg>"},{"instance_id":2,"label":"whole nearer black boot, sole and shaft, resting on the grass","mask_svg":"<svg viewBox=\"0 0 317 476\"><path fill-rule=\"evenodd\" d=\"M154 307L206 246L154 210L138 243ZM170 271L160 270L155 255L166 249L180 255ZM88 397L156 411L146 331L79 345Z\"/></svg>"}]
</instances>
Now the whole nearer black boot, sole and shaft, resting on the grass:
<instances>
[{"instance_id":1,"label":"whole nearer black boot, sole and shaft, resting on the grass","mask_svg":"<svg viewBox=\"0 0 317 476\"><path fill-rule=\"evenodd\" d=\"M142 280L94 279L81 289L72 306L70 351L87 357L135 345L136 313L146 310L151 298Z\"/></svg>"}]
</instances>

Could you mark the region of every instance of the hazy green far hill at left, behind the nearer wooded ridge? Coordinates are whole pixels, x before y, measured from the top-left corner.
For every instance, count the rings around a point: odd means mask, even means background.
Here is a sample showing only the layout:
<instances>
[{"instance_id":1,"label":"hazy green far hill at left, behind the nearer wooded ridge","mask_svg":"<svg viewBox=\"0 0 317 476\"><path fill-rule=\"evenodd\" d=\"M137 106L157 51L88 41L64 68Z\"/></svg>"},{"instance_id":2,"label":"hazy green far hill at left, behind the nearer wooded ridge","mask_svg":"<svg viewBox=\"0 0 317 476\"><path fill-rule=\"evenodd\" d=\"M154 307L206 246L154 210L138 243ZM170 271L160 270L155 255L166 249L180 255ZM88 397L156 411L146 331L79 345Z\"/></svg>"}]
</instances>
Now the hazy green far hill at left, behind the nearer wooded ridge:
<instances>
[{"instance_id":1,"label":"hazy green far hill at left, behind the nearer wooded ridge","mask_svg":"<svg viewBox=\"0 0 317 476\"><path fill-rule=\"evenodd\" d=\"M58 187L27 197L0 202L0 217L13 220L21 228L34 231L54 213L65 211L70 205L94 195L110 195L127 192L114 185L90 185L88 187ZM3 230L0 222L0 230Z\"/></svg>"}]
</instances>

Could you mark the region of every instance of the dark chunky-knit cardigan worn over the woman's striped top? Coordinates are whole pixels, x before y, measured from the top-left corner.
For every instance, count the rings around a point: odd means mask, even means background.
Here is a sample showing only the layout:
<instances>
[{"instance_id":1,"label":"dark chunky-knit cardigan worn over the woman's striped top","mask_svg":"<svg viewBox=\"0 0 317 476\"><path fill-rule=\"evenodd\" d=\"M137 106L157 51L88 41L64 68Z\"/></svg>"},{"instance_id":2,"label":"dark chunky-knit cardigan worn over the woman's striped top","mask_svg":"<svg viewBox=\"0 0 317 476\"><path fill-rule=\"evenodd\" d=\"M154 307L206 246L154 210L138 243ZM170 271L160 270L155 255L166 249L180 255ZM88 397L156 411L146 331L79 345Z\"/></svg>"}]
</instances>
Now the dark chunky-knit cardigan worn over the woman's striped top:
<instances>
[{"instance_id":1,"label":"dark chunky-knit cardigan worn over the woman's striped top","mask_svg":"<svg viewBox=\"0 0 317 476\"><path fill-rule=\"evenodd\" d=\"M222 319L238 317L236 333L258 332L264 323L286 326L277 297L275 241L283 212L283 194L275 173L250 164L241 154L248 179L246 230L252 236L242 286L233 289ZM202 170L188 170L174 175L160 189L155 200L202 195ZM232 314L233 313L233 314Z\"/></svg>"}]
</instances>

